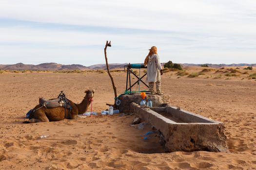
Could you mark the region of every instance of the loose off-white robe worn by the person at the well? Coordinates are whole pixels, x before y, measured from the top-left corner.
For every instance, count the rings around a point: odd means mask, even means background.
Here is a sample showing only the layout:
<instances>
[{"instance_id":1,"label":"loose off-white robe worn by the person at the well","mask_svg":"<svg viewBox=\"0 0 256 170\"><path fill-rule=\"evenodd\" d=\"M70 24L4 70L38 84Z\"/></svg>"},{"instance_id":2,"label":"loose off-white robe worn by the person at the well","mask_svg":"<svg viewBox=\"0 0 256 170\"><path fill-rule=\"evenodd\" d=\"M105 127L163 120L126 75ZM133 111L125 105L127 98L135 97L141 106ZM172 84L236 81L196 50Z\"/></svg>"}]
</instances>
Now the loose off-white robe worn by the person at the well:
<instances>
[{"instance_id":1,"label":"loose off-white robe worn by the person at the well","mask_svg":"<svg viewBox=\"0 0 256 170\"><path fill-rule=\"evenodd\" d=\"M158 54L148 57L146 82L160 82L160 69L162 69Z\"/></svg>"}]
</instances>

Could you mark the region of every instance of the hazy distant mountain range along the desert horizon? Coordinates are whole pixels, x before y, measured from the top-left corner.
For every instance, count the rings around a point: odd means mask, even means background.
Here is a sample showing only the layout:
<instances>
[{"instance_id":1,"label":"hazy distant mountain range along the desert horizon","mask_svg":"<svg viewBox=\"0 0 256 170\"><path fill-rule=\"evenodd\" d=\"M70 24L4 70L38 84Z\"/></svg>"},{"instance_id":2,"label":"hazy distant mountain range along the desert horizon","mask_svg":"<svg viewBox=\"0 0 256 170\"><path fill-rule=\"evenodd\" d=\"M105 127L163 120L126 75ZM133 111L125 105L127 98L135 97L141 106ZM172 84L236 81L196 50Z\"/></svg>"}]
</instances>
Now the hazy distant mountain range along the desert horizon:
<instances>
[{"instance_id":1,"label":"hazy distant mountain range along the desert horizon","mask_svg":"<svg viewBox=\"0 0 256 170\"><path fill-rule=\"evenodd\" d=\"M164 63L162 63L163 65ZM109 64L110 69L118 69L118 68L123 68L125 65L128 65L128 63L113 63ZM180 64L182 67L187 67L187 66L201 66L202 64ZM207 64L209 67L212 68L220 68L220 67L239 67L239 66L256 66L256 64ZM97 64L97 65L92 65L89 67L85 67L83 65L79 64L72 64L72 65L62 65L62 64L57 64L57 63L42 63L39 65L27 65L23 63L17 63L13 65L0 65L0 69L6 69L6 70L74 70L74 69L79 69L79 70L86 70L86 69L107 69L106 64Z\"/></svg>"}]
</instances>

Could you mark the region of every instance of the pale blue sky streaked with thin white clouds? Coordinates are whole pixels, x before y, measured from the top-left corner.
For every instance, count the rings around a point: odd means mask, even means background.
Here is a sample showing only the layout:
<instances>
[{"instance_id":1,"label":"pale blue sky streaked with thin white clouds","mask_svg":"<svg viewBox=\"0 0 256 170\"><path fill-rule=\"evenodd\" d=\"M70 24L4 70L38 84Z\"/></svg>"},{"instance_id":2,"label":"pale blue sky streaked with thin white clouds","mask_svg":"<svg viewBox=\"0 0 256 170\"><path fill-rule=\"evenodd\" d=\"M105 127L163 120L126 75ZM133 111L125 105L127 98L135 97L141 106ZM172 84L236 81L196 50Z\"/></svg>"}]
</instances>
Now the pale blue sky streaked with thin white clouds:
<instances>
[{"instance_id":1,"label":"pale blue sky streaked with thin white clouds","mask_svg":"<svg viewBox=\"0 0 256 170\"><path fill-rule=\"evenodd\" d=\"M256 0L0 0L0 64L256 63Z\"/></svg>"}]
</instances>

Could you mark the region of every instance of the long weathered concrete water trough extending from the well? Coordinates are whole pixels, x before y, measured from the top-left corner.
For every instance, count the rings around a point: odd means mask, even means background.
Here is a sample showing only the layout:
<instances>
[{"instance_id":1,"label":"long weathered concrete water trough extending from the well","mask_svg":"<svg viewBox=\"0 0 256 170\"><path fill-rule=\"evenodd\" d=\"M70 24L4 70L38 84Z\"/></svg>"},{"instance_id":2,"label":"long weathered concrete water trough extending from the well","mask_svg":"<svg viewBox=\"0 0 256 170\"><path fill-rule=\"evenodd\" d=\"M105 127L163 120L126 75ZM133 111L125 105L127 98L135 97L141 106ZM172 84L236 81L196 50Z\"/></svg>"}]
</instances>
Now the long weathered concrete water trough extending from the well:
<instances>
[{"instance_id":1,"label":"long weathered concrete water trough extending from the well","mask_svg":"<svg viewBox=\"0 0 256 170\"><path fill-rule=\"evenodd\" d=\"M169 105L149 109L132 102L130 111L159 131L168 152L229 152L224 123Z\"/></svg>"}]
</instances>

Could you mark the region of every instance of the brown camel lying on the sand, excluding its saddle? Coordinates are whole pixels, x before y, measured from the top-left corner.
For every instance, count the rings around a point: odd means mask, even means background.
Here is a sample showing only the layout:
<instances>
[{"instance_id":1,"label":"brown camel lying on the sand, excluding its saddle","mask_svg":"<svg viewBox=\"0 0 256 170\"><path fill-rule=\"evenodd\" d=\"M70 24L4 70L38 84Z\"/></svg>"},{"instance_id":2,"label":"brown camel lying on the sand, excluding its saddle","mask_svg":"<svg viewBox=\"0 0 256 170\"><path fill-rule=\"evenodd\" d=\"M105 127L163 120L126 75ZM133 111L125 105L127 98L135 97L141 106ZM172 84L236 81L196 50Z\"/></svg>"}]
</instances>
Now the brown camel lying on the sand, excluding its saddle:
<instances>
[{"instance_id":1,"label":"brown camel lying on the sand, excluding its saddle","mask_svg":"<svg viewBox=\"0 0 256 170\"><path fill-rule=\"evenodd\" d=\"M64 107L45 108L38 104L34 110L38 109L39 107L41 108L30 114L29 121L24 121L24 123L59 121L61 119L78 119L78 115L86 112L90 106L92 98L94 97L94 92L94 90L86 90L86 95L79 104L67 99L70 102L72 109L71 111L66 109L66 116Z\"/></svg>"}]
</instances>

